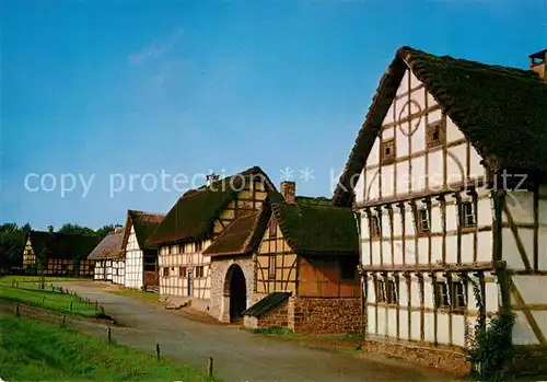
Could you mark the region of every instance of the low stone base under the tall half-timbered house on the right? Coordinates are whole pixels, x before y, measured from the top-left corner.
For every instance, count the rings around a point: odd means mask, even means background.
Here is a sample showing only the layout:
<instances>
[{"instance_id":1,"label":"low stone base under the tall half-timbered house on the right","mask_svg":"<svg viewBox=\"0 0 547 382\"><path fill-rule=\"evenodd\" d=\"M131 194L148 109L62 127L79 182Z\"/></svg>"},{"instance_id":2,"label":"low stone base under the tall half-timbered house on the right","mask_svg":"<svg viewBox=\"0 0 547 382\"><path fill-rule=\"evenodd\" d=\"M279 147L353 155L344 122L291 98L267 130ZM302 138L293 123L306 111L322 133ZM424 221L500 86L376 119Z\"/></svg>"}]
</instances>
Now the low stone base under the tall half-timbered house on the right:
<instances>
[{"instance_id":1,"label":"low stone base under the tall half-timbered house on the right","mask_svg":"<svg viewBox=\"0 0 547 382\"><path fill-rule=\"evenodd\" d=\"M432 348L374 339L365 340L363 349L365 351L400 357L409 362L441 369L458 375L465 375L472 370L463 349Z\"/></svg>"}]
</instances>

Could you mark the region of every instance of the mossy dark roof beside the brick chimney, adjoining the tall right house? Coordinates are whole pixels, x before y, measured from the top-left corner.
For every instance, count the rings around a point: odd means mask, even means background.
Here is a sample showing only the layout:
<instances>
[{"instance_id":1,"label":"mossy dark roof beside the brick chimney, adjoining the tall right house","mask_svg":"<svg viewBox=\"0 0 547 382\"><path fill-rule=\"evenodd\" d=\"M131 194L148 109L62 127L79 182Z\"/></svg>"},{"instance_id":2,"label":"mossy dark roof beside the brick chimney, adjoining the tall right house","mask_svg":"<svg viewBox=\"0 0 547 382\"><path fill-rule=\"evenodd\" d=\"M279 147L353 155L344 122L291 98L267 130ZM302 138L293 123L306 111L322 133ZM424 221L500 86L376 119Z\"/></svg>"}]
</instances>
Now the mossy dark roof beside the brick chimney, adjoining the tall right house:
<instances>
[{"instance_id":1,"label":"mossy dark roof beside the brick chimney, adjoining the tall right house","mask_svg":"<svg viewBox=\"0 0 547 382\"><path fill-rule=\"evenodd\" d=\"M294 204L272 202L271 209L291 248L299 254L358 255L359 234L353 212L324 198Z\"/></svg>"}]
</instances>

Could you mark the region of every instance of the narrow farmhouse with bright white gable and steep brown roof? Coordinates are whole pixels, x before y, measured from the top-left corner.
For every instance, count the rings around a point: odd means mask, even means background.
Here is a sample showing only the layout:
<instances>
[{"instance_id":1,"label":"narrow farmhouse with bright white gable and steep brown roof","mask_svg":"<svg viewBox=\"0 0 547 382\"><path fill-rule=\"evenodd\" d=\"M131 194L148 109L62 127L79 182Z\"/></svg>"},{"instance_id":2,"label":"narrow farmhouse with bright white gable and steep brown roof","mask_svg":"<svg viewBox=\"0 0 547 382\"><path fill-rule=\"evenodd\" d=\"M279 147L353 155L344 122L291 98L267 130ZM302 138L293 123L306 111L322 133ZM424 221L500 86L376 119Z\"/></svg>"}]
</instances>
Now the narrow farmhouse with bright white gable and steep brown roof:
<instances>
[{"instance_id":1,"label":"narrow farmhouse with bright white gable and steep brown roof","mask_svg":"<svg viewBox=\"0 0 547 382\"><path fill-rule=\"evenodd\" d=\"M158 247L147 240L161 223L165 215L128 210L121 259L113 263L113 280L125 273L123 285L127 288L158 290Z\"/></svg>"}]
</instances>

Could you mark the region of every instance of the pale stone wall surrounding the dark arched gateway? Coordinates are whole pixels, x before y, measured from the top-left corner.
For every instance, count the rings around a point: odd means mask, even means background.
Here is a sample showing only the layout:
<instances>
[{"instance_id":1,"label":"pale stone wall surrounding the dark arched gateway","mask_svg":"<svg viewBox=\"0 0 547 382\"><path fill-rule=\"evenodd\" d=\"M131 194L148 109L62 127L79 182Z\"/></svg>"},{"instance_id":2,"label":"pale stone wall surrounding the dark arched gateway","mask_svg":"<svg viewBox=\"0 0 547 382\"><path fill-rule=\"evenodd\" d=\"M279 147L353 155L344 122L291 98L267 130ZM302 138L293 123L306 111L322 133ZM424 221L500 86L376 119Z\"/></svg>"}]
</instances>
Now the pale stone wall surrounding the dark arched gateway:
<instances>
[{"instance_id":1,"label":"pale stone wall surrounding the dark arched gateway","mask_svg":"<svg viewBox=\"0 0 547 382\"><path fill-rule=\"evenodd\" d=\"M228 269L237 264L245 276L247 289L247 308L260 300L255 297L255 262L246 257L212 257L211 258L211 305L209 313L221 322L230 322L230 296L226 294ZM229 287L229 285L228 285Z\"/></svg>"}]
</instances>

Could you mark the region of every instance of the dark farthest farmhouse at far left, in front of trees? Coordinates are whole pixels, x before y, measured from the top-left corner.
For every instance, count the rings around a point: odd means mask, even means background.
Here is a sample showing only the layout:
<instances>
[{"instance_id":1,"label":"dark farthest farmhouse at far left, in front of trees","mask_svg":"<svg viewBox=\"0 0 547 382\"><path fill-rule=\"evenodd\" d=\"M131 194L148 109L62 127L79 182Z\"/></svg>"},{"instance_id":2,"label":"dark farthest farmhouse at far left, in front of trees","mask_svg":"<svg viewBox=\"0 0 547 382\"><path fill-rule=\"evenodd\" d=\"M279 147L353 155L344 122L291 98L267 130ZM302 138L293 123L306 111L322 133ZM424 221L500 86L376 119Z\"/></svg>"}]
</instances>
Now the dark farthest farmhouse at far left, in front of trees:
<instances>
[{"instance_id":1,"label":"dark farthest farmhouse at far left, in front of trees","mask_svg":"<svg viewBox=\"0 0 547 382\"><path fill-rule=\"evenodd\" d=\"M23 268L46 276L93 277L93 262L85 257L98 243L94 235L79 235L47 231L30 231L23 250Z\"/></svg>"}]
</instances>

